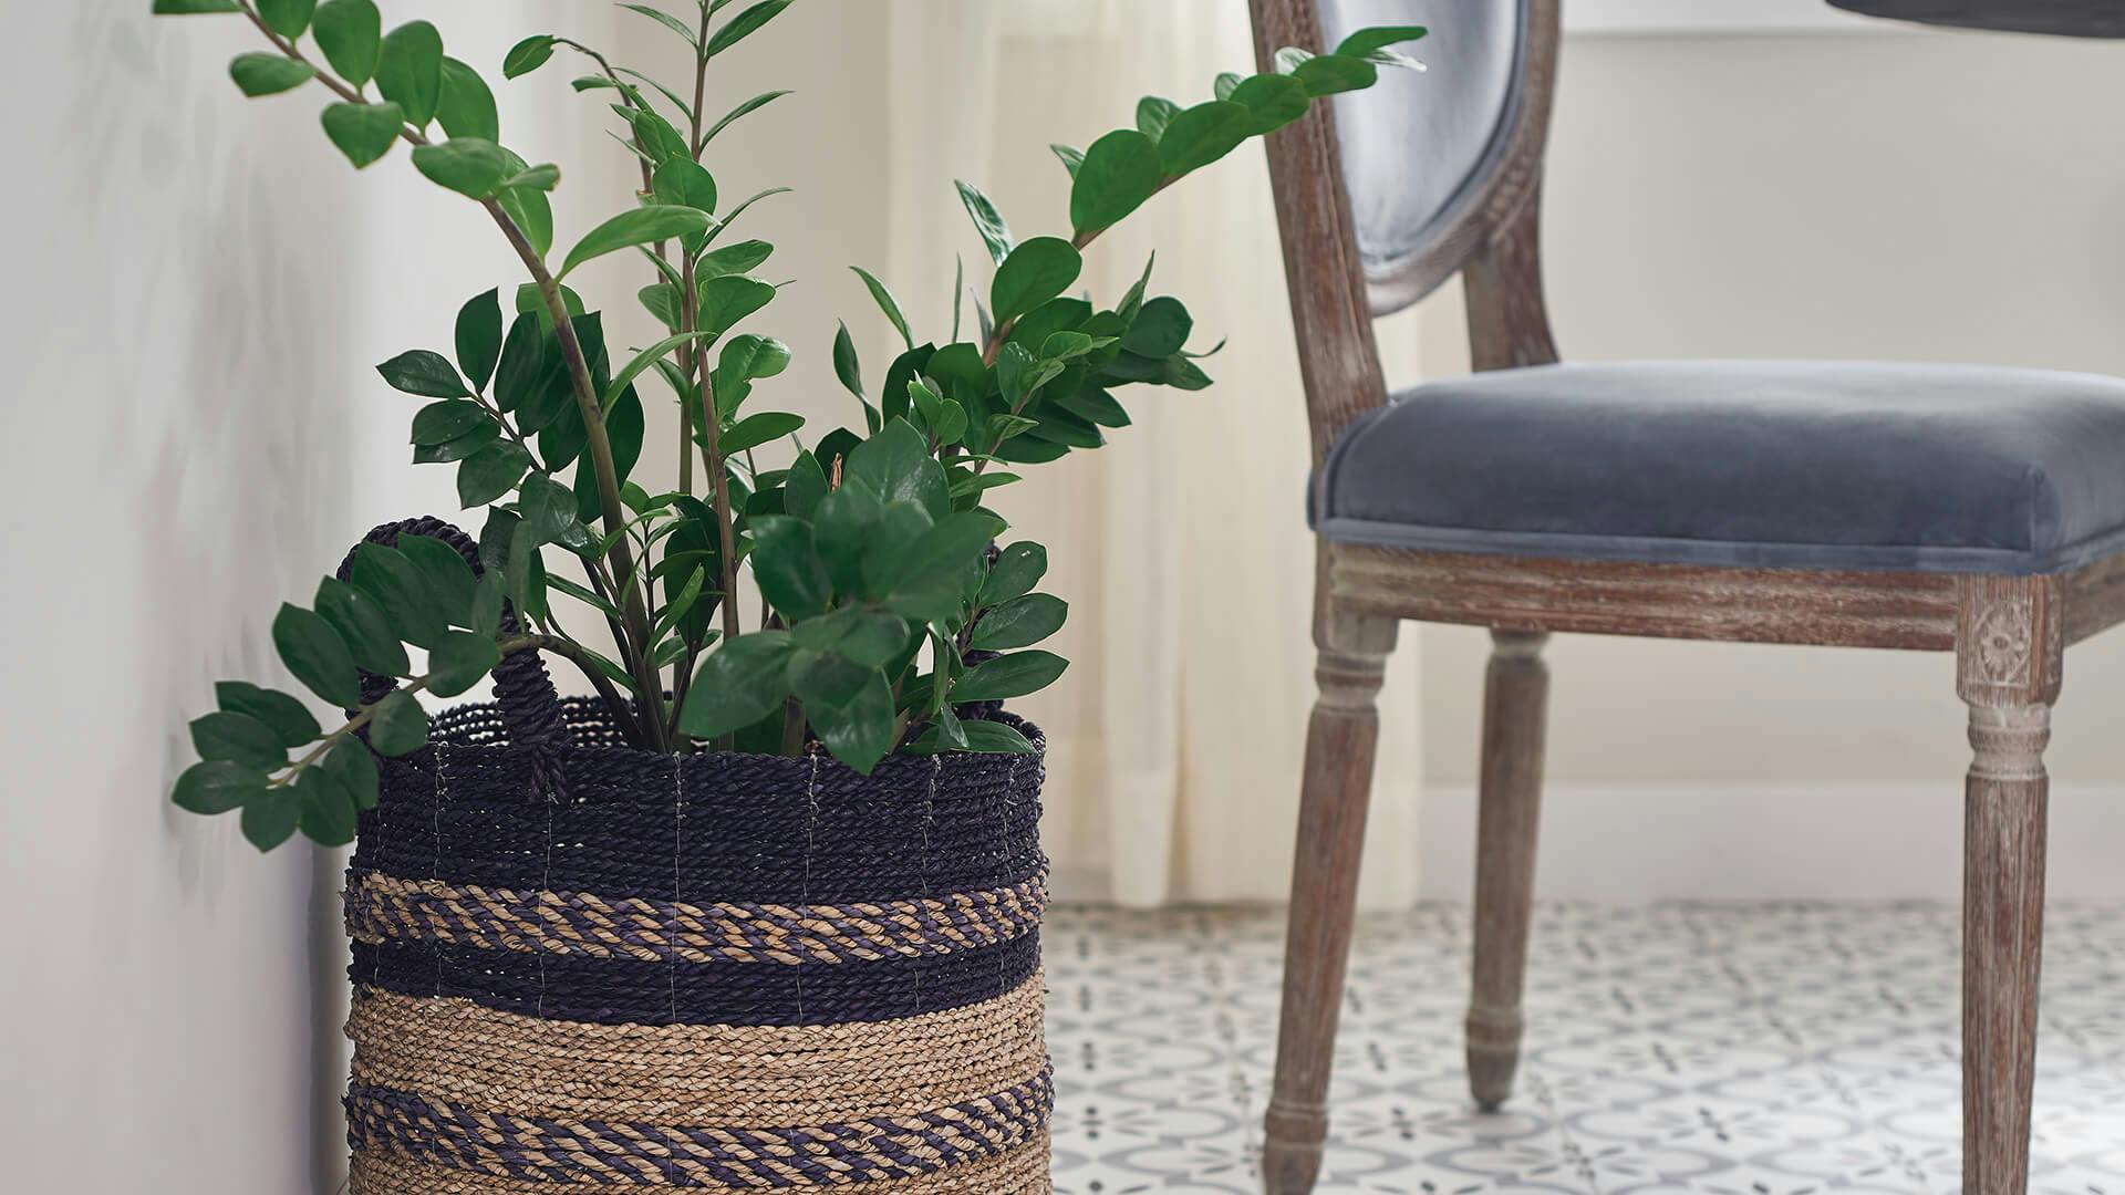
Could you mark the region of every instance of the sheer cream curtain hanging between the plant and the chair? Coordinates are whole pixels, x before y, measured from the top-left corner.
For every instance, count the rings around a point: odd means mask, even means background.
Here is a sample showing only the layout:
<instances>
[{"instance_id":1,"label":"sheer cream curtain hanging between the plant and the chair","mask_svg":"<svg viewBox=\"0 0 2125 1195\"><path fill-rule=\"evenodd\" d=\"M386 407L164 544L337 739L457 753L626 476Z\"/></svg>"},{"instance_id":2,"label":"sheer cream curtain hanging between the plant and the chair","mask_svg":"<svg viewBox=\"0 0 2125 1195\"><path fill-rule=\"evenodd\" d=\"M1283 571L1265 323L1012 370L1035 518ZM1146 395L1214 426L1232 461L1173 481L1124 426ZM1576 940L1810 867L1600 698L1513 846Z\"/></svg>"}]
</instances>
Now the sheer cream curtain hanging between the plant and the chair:
<instances>
[{"instance_id":1,"label":"sheer cream curtain hanging between the plant and the chair","mask_svg":"<svg viewBox=\"0 0 2125 1195\"><path fill-rule=\"evenodd\" d=\"M1239 0L895 0L888 13L890 281L924 313L952 291L954 253L971 293L988 285L952 179L986 189L1020 236L1062 230L1069 176L1050 140L1082 147L1128 123L1137 96L1205 100L1220 70L1254 60ZM1109 447L997 493L1014 534L1050 546L1048 589L1071 602L1058 651L1073 668L1022 704L1050 736L1050 853L1071 899L1284 899L1313 702L1313 544L1260 145L1105 234L1084 285L1111 302L1154 245L1152 293L1188 302L1192 347L1230 338L1203 361L1218 387L1137 387L1135 425ZM1381 334L1390 368L1413 370L1415 327ZM1360 893L1373 908L1417 891L1413 638L1381 702Z\"/></svg>"}]
</instances>

